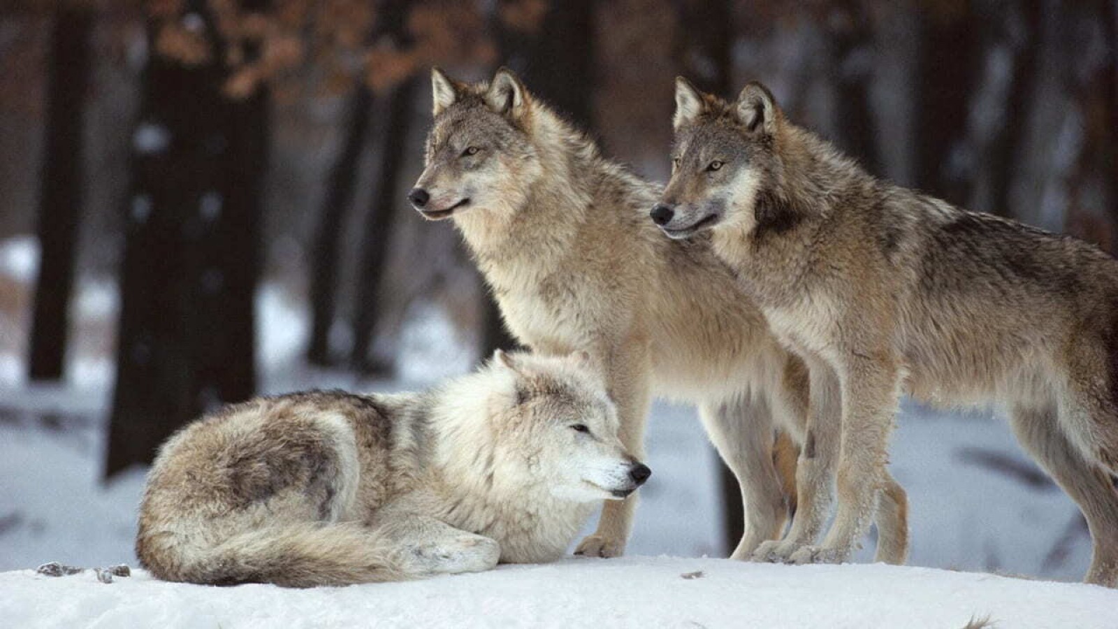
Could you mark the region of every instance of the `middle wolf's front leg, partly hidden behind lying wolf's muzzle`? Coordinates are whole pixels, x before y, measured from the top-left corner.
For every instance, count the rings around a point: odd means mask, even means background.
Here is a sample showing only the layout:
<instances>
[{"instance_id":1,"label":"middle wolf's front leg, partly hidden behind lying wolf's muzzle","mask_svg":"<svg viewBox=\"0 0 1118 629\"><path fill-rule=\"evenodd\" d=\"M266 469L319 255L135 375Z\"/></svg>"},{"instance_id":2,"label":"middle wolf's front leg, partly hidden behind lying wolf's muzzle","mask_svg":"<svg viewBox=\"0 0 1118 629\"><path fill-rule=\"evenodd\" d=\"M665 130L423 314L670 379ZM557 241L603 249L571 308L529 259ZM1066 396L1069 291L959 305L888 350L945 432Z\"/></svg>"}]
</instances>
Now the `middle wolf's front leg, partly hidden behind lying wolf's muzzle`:
<instances>
[{"instance_id":1,"label":"middle wolf's front leg, partly hidden behind lying wolf's muzzle","mask_svg":"<svg viewBox=\"0 0 1118 629\"><path fill-rule=\"evenodd\" d=\"M644 424L648 416L648 381L652 369L647 340L643 336L631 337L619 347L598 353L595 358L603 366L609 396L617 405L622 444L637 460L643 461ZM623 555L633 531L636 504L636 492L624 500L606 500L597 531L579 543L575 554L595 557Z\"/></svg>"}]
</instances>

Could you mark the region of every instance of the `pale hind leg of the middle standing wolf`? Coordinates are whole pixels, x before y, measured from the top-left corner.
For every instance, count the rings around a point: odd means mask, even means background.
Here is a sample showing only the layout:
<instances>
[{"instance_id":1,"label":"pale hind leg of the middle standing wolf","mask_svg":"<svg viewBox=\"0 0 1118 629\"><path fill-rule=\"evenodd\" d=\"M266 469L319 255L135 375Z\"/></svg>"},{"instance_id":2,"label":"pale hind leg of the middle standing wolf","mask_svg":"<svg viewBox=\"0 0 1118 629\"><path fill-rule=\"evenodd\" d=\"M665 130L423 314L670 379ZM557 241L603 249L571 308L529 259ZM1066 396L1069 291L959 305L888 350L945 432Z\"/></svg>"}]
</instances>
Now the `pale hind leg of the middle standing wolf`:
<instances>
[{"instance_id":1,"label":"pale hind leg of the middle standing wolf","mask_svg":"<svg viewBox=\"0 0 1118 629\"><path fill-rule=\"evenodd\" d=\"M780 535L787 515L784 489L773 464L771 413L762 401L739 397L703 404L699 417L741 487L745 534L730 558L749 558L761 542Z\"/></svg>"}]
</instances>

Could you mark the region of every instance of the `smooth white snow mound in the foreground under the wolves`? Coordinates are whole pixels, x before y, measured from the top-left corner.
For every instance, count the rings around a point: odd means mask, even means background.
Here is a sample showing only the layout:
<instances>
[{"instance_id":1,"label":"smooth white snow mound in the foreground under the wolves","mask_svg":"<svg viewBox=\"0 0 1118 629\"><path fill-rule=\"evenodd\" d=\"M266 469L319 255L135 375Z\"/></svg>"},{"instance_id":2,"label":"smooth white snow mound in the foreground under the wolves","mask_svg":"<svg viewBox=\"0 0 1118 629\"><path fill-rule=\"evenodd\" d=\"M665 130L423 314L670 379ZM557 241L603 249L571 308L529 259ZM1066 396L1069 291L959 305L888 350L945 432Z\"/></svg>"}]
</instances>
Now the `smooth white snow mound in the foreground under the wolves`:
<instances>
[{"instance_id":1,"label":"smooth white snow mound in the foreground under the wolves","mask_svg":"<svg viewBox=\"0 0 1118 629\"><path fill-rule=\"evenodd\" d=\"M407 583L285 590L165 583L143 571L0 573L9 627L834 627L1118 626L1118 591L991 574L874 565L571 557Z\"/></svg>"}]
</instances>

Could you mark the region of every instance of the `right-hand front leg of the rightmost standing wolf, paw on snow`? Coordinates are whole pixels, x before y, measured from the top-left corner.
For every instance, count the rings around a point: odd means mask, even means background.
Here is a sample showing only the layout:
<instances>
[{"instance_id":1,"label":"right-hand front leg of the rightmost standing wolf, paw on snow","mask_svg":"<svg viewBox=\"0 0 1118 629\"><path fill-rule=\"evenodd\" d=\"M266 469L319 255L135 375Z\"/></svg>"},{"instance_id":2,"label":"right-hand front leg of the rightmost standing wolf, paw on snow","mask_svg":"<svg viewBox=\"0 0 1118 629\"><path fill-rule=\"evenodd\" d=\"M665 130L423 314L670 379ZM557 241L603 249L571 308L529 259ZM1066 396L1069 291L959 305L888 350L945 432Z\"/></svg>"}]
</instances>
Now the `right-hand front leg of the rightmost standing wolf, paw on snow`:
<instances>
[{"instance_id":1,"label":"right-hand front leg of the rightmost standing wolf, paw on snow","mask_svg":"<svg viewBox=\"0 0 1118 629\"><path fill-rule=\"evenodd\" d=\"M859 353L839 367L842 448L839 508L821 546L796 551L793 563L843 563L865 535L885 484L889 434L900 398L900 370L887 350Z\"/></svg>"}]
</instances>

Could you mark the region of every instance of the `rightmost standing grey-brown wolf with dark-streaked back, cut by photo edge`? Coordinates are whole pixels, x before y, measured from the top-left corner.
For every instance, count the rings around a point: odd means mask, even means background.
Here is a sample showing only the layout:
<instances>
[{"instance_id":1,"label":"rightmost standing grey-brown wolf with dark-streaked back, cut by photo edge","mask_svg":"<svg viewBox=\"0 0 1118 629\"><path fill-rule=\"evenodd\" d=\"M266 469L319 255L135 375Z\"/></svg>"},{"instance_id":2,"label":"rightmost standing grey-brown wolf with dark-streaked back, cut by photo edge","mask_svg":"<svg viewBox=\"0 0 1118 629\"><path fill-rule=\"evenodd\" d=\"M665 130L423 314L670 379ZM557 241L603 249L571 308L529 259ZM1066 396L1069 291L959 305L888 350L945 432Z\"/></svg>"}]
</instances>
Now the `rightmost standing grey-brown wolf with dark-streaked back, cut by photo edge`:
<instances>
[{"instance_id":1,"label":"rightmost standing grey-brown wolf with dark-streaked back, cut by photo edge","mask_svg":"<svg viewBox=\"0 0 1118 629\"><path fill-rule=\"evenodd\" d=\"M760 557L849 558L909 392L1004 404L1087 516L1087 581L1118 585L1118 262L879 181L756 83L727 103L680 79L674 124L673 176L653 220L673 238L709 231L743 299L807 360L813 402L841 405L841 422L824 412L808 428L818 457L841 443L837 461L819 463L837 470L830 532L821 546L788 537Z\"/></svg>"}]
</instances>

